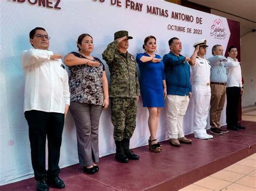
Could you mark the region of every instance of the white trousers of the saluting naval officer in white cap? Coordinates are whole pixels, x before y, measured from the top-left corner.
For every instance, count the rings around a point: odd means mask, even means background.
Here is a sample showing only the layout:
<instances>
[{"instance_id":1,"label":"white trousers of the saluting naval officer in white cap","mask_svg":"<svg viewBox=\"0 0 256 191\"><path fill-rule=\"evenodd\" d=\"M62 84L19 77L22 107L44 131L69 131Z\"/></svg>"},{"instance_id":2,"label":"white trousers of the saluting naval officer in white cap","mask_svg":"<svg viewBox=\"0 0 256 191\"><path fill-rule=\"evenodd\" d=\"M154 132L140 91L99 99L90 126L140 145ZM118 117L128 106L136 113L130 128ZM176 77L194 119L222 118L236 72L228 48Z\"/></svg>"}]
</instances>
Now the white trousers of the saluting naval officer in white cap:
<instances>
[{"instance_id":1,"label":"white trousers of the saluting naval officer in white cap","mask_svg":"<svg viewBox=\"0 0 256 191\"><path fill-rule=\"evenodd\" d=\"M208 109L211 101L210 86L194 85L192 90L194 98L194 133L206 133Z\"/></svg>"}]
</instances>

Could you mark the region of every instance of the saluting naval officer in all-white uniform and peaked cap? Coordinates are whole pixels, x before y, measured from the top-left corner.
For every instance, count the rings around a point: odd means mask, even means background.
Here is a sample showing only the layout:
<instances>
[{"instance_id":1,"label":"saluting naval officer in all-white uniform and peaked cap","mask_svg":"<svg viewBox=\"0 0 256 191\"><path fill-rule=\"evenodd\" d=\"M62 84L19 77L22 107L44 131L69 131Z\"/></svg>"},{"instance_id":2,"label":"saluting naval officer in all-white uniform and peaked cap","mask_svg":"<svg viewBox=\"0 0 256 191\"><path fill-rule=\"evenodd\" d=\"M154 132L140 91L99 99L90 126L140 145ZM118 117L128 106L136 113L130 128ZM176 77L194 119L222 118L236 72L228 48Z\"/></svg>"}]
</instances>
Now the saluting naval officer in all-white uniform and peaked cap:
<instances>
[{"instance_id":1,"label":"saluting naval officer in all-white uniform and peaked cap","mask_svg":"<svg viewBox=\"0 0 256 191\"><path fill-rule=\"evenodd\" d=\"M205 59L207 49L207 40L197 41L193 46L195 48L191 60L189 61L192 69L192 93L194 98L194 137L199 139L213 138L206 133L208 109L211 100L210 88L210 70L211 65Z\"/></svg>"}]
</instances>

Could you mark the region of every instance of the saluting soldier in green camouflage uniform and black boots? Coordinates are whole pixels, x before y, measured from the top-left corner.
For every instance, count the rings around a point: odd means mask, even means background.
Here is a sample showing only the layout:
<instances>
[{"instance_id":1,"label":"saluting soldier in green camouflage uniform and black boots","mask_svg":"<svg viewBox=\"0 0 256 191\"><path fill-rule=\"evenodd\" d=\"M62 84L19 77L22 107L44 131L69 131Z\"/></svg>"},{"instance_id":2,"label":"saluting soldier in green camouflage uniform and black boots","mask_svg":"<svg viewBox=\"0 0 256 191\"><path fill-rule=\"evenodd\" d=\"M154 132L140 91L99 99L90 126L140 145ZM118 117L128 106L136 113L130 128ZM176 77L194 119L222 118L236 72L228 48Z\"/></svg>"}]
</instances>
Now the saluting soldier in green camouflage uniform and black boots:
<instances>
[{"instance_id":1,"label":"saluting soldier in green camouflage uniform and black boots","mask_svg":"<svg viewBox=\"0 0 256 191\"><path fill-rule=\"evenodd\" d=\"M114 125L116 160L129 162L138 160L130 146L130 138L136 128L137 102L140 96L136 61L127 48L132 39L127 31L114 33L102 56L110 70L111 119Z\"/></svg>"}]
</instances>

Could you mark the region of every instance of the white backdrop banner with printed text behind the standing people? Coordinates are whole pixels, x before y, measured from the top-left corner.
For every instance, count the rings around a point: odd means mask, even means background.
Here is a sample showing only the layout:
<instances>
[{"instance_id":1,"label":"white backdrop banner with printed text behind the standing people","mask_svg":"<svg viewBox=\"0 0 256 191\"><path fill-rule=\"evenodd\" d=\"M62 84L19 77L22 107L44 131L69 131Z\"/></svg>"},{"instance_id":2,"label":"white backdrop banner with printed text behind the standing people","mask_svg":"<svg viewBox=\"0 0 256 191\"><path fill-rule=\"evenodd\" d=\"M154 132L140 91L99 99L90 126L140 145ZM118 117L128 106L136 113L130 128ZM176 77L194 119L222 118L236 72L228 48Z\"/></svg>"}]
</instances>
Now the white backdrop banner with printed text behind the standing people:
<instances>
[{"instance_id":1,"label":"white backdrop banner with printed text behind the standing people","mask_svg":"<svg viewBox=\"0 0 256 191\"><path fill-rule=\"evenodd\" d=\"M230 38L226 18L161 0L1 0L0 23L0 186L33 176L28 125L23 114L24 76L20 60L20 53L31 48L29 32L33 28L44 27L51 37L50 50L63 56L77 51L78 36L89 33L95 44L92 55L99 59L113 41L114 32L119 30L127 30L133 37L129 52L134 56L143 52L144 38L150 35L157 38L157 54L161 56L170 51L168 40L172 37L181 40L181 54L185 56L192 55L196 41L206 38L209 45L206 58L211 56L215 44L223 45L225 52ZM193 107L191 101L184 119L186 134L192 133ZM168 138L165 113L161 112L158 140ZM225 124L225 110L223 114L221 122ZM148 116L140 100L132 148L147 144ZM100 117L99 152L101 157L115 152L110 108ZM59 165L77 163L76 131L69 114Z\"/></svg>"}]
</instances>

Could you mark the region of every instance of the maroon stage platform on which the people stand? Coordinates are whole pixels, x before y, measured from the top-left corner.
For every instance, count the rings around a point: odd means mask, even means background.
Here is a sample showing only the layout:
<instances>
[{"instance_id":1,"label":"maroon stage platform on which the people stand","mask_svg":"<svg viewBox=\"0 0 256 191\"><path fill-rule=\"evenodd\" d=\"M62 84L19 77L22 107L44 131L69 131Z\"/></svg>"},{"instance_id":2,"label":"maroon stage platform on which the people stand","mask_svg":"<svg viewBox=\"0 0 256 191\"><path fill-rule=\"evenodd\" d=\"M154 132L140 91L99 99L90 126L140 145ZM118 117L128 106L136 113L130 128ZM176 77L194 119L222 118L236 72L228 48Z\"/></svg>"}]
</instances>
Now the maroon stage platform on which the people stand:
<instances>
[{"instance_id":1,"label":"maroon stage platform on which the people stand","mask_svg":"<svg viewBox=\"0 0 256 191\"><path fill-rule=\"evenodd\" d=\"M193 144L181 147L161 142L160 153L148 146L134 149L140 155L137 161L121 164L114 155L100 158L99 172L83 173L79 165L63 168L60 172L64 190L178 190L205 178L256 152L256 122L242 121L246 130L230 131L213 139L201 140L187 136ZM0 190L36 190L31 178L0 187ZM50 190L53 189L50 187Z\"/></svg>"}]
</instances>

